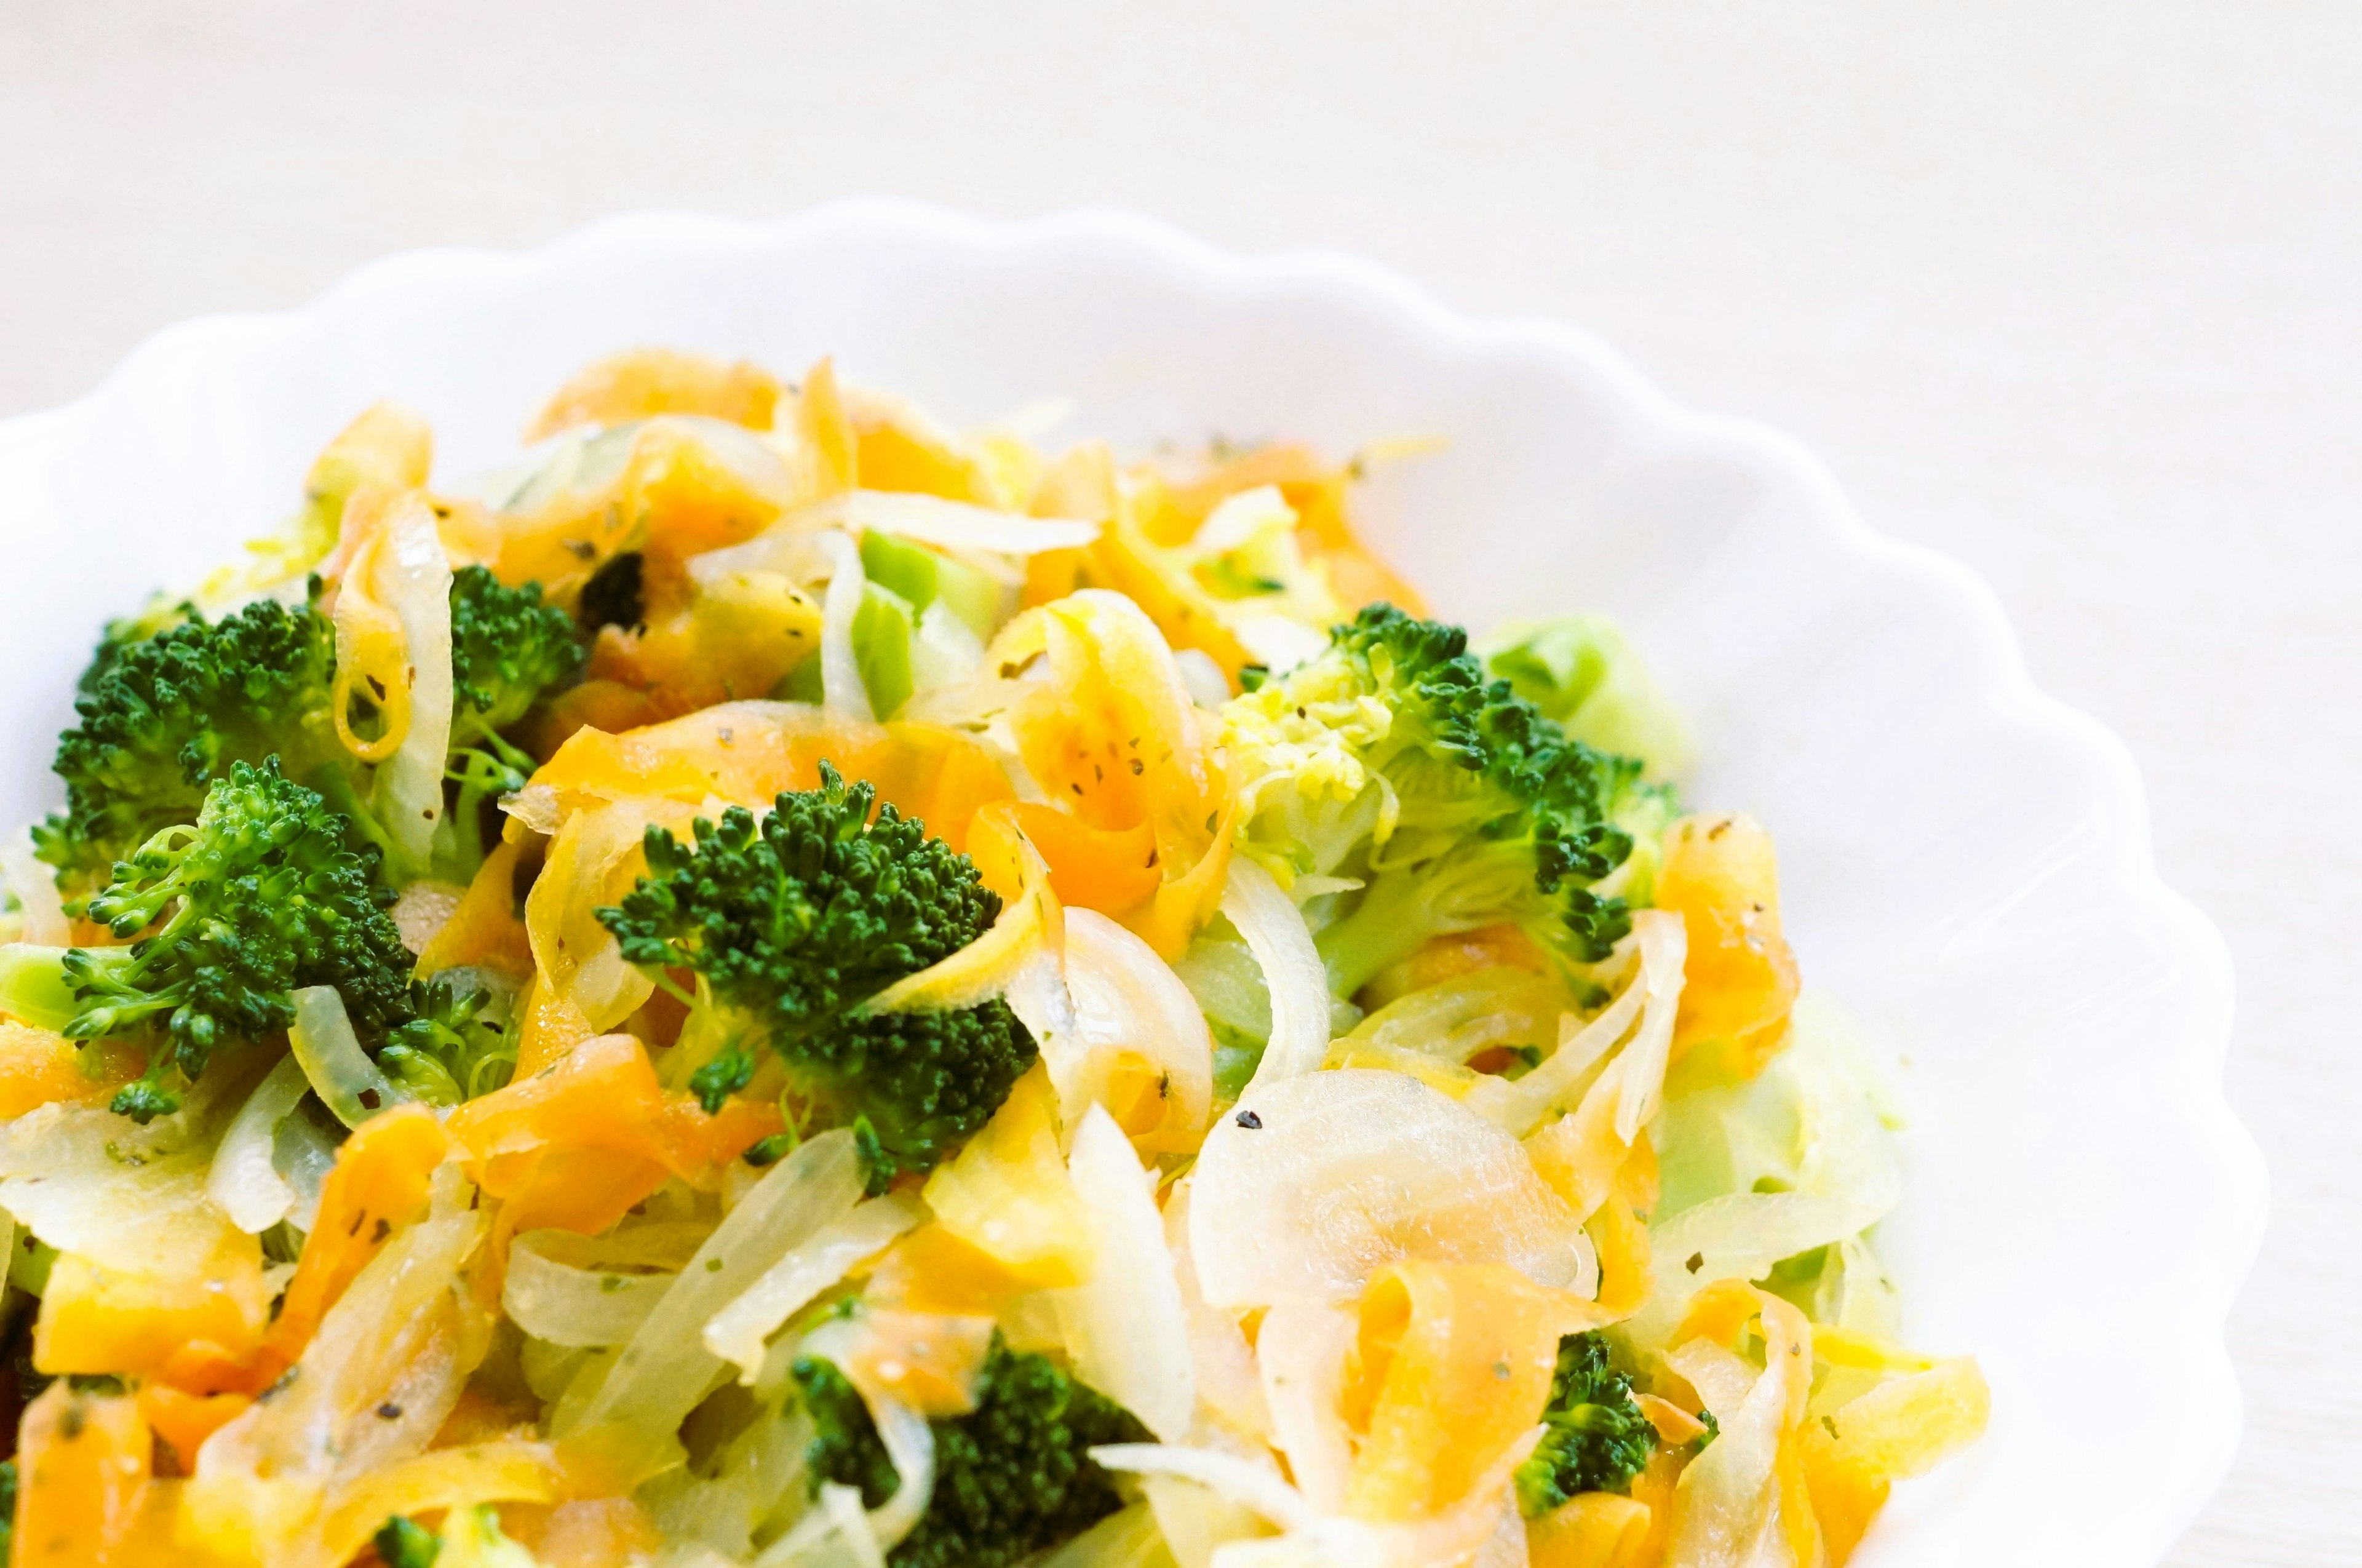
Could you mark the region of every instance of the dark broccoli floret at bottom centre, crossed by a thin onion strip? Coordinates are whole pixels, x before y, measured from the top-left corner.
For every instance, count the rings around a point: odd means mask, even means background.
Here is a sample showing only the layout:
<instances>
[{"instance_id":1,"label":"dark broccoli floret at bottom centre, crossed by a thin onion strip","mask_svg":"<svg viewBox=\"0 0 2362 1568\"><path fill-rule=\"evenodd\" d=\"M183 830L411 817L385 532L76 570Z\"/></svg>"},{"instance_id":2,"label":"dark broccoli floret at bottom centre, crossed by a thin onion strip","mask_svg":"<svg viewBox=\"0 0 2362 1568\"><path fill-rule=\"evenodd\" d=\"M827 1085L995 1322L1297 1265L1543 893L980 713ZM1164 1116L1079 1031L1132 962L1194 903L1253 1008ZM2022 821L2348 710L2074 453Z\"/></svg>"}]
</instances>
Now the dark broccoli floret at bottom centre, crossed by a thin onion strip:
<instances>
[{"instance_id":1,"label":"dark broccoli floret at bottom centre, crossed by a thin onion strip","mask_svg":"<svg viewBox=\"0 0 2362 1568\"><path fill-rule=\"evenodd\" d=\"M815 1436L810 1485L857 1485L879 1507L900 1485L869 1407L827 1360L791 1367ZM893 1568L1004 1568L1082 1535L1124 1507L1115 1478L1089 1459L1101 1443L1150 1443L1129 1410L1042 1355L999 1339L985 1358L976 1410L928 1422L935 1492L919 1525L886 1561Z\"/></svg>"}]
</instances>

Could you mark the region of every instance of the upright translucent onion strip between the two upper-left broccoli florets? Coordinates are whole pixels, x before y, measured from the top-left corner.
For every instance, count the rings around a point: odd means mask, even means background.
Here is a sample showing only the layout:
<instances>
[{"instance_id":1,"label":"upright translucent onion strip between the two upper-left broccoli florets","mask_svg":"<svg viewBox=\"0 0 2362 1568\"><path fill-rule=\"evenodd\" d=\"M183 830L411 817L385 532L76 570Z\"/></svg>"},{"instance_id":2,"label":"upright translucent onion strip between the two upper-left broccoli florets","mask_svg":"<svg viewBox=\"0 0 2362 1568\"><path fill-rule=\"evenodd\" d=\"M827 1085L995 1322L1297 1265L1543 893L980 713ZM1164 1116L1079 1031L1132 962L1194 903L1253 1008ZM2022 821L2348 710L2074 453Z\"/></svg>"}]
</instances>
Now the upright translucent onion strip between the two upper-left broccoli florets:
<instances>
[{"instance_id":1,"label":"upright translucent onion strip between the two upper-left broccoli florets","mask_svg":"<svg viewBox=\"0 0 2362 1568\"><path fill-rule=\"evenodd\" d=\"M371 553L371 579L376 597L402 623L411 673L411 723L394 756L378 767L371 805L394 841L404 876L418 876L442 827L451 751L451 560L435 508L423 496L406 496L385 520L385 538Z\"/></svg>"}]
</instances>

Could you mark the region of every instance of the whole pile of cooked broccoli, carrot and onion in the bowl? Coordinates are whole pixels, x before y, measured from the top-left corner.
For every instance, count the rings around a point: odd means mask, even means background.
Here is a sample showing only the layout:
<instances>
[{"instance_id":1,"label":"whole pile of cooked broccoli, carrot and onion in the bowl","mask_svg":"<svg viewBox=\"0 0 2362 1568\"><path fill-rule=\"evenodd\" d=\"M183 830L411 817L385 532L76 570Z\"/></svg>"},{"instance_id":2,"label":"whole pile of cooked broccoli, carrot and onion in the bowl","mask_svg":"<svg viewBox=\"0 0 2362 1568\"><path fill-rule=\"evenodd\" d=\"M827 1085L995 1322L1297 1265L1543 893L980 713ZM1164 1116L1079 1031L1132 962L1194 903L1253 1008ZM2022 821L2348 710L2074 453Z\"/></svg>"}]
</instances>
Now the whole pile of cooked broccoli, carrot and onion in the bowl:
<instances>
[{"instance_id":1,"label":"whole pile of cooked broccoli, carrot and onion in the bowl","mask_svg":"<svg viewBox=\"0 0 2362 1568\"><path fill-rule=\"evenodd\" d=\"M1982 1431L1772 838L1403 446L527 439L354 420L0 845L9 1561L1819 1568Z\"/></svg>"}]
</instances>

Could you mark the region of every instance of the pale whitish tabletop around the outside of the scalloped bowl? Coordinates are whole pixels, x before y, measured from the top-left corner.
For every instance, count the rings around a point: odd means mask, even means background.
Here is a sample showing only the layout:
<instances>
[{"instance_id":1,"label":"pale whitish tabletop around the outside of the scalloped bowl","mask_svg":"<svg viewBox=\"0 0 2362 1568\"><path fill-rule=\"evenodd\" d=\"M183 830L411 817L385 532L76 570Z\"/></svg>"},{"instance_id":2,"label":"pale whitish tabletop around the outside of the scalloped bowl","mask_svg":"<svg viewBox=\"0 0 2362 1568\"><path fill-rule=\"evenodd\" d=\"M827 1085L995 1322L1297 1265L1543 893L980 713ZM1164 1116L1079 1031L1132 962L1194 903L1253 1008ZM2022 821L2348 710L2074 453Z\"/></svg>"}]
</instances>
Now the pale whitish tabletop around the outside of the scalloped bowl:
<instances>
[{"instance_id":1,"label":"pale whitish tabletop around the outside of the scalloped bowl","mask_svg":"<svg viewBox=\"0 0 2362 1568\"><path fill-rule=\"evenodd\" d=\"M2275 1169L2242 1464L2168 1561L2357 1559L2353 7L487 9L0 5L0 411L380 250L864 189L1127 201L1583 321L1977 567L2133 744Z\"/></svg>"}]
</instances>

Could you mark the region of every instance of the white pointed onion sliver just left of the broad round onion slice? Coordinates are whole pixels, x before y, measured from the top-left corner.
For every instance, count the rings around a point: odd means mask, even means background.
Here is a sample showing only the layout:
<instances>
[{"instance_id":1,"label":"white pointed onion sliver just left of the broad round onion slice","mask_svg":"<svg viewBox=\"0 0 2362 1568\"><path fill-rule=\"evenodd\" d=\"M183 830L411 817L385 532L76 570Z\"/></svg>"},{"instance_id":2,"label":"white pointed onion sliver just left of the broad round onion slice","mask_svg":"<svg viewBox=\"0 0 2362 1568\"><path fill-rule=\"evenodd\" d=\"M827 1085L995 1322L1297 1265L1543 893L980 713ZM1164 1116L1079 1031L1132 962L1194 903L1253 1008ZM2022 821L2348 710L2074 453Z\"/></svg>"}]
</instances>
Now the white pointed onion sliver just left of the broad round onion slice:
<instances>
[{"instance_id":1,"label":"white pointed onion sliver just left of the broad round onion slice","mask_svg":"<svg viewBox=\"0 0 2362 1568\"><path fill-rule=\"evenodd\" d=\"M1160 1438L1188 1433L1198 1407L1188 1313L1164 1247L1153 1178L1103 1108L1091 1105L1068 1157L1091 1211L1091 1278L1058 1292L1058 1325L1082 1381L1131 1410Z\"/></svg>"}]
</instances>

